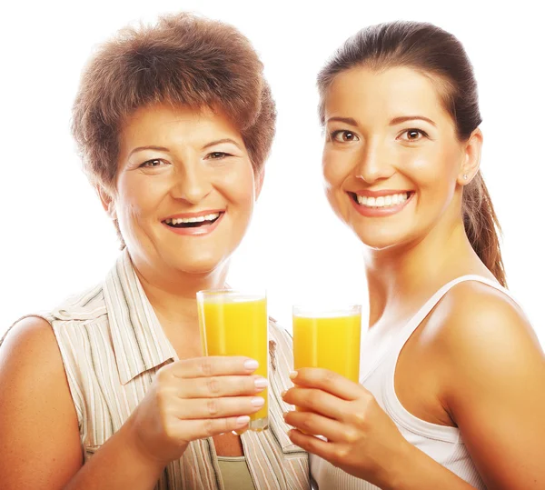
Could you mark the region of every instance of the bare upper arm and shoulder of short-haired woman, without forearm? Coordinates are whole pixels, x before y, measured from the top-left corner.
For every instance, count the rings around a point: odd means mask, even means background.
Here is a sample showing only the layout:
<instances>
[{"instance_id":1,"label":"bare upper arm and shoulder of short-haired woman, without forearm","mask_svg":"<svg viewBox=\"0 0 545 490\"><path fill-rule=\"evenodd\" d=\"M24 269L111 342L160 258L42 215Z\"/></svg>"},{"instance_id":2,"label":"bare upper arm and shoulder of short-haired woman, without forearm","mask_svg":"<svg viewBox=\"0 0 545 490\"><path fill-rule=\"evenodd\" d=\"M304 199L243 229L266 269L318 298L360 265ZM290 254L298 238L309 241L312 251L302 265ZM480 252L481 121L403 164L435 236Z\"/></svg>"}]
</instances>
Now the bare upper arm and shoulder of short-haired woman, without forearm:
<instances>
[{"instance_id":1,"label":"bare upper arm and shoulder of short-haired woman, without forearm","mask_svg":"<svg viewBox=\"0 0 545 490\"><path fill-rule=\"evenodd\" d=\"M81 466L78 418L45 319L17 322L0 345L0 406L0 474L6 488L64 485Z\"/></svg>"}]
</instances>

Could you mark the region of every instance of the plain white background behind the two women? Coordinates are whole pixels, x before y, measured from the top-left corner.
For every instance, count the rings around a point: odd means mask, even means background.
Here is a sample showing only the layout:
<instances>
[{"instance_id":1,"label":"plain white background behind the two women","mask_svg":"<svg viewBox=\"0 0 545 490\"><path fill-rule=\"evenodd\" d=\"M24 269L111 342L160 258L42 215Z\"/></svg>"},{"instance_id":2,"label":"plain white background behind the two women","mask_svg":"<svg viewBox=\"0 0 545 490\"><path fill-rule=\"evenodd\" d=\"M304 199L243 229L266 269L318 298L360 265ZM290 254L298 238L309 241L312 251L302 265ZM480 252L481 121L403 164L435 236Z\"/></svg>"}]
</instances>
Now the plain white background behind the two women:
<instances>
[{"instance_id":1,"label":"plain white background behind the two women","mask_svg":"<svg viewBox=\"0 0 545 490\"><path fill-rule=\"evenodd\" d=\"M364 25L429 21L457 35L475 67L482 169L504 230L510 289L545 345L543 26L537 2L487 4L94 0L1 7L0 335L20 315L94 285L114 263L114 228L69 134L79 74L93 46L118 28L183 9L250 37L278 106L263 194L233 258L232 285L266 285L271 315L288 328L292 302L305 295L365 304L361 245L322 195L315 75Z\"/></svg>"}]
</instances>

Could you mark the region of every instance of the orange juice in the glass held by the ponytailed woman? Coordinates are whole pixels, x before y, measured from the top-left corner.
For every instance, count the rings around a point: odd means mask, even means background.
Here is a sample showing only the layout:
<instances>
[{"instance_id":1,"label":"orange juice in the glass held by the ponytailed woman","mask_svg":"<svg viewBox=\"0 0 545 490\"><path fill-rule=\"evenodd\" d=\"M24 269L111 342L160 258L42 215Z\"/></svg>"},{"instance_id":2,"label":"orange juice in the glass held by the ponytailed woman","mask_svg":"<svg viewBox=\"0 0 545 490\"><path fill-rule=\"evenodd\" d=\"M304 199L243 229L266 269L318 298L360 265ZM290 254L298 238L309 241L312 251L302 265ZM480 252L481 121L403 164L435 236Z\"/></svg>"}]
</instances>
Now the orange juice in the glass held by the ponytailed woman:
<instances>
[{"instance_id":1,"label":"orange juice in the glass held by the ponytailed woman","mask_svg":"<svg viewBox=\"0 0 545 490\"><path fill-rule=\"evenodd\" d=\"M322 367L358 383L362 309L312 314L293 308L293 366Z\"/></svg>"}]
</instances>

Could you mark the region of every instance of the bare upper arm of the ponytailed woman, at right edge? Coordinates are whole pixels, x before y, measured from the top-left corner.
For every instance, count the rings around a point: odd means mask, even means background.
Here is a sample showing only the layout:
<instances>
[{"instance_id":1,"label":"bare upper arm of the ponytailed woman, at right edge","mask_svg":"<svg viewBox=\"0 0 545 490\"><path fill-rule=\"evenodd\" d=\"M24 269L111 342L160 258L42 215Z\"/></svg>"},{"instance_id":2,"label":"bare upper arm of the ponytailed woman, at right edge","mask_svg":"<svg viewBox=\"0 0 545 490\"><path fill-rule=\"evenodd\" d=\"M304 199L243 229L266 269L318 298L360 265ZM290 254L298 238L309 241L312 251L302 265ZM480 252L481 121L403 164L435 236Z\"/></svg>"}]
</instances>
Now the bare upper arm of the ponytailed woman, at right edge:
<instances>
[{"instance_id":1,"label":"bare upper arm of the ponytailed woman, at right edge","mask_svg":"<svg viewBox=\"0 0 545 490\"><path fill-rule=\"evenodd\" d=\"M516 305L465 286L440 334L452 367L445 403L488 488L543 488L545 356Z\"/></svg>"}]
</instances>

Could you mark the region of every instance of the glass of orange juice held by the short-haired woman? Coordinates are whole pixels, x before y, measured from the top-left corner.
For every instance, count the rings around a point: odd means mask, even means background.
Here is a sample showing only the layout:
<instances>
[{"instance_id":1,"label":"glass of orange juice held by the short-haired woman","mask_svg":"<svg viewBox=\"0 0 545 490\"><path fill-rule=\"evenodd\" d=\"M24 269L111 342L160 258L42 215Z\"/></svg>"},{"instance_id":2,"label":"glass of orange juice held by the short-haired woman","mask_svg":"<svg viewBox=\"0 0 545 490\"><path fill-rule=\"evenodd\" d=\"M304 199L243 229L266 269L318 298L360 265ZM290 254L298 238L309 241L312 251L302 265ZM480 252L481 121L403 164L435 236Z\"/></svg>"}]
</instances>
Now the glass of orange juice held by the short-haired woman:
<instances>
[{"instance_id":1,"label":"glass of orange juice held by the short-haired woman","mask_svg":"<svg viewBox=\"0 0 545 490\"><path fill-rule=\"evenodd\" d=\"M197 293L197 305L203 354L251 357L259 363L254 374L268 378L269 317L265 293L210 289ZM263 396L265 405L251 415L247 427L256 432L269 426L268 390L259 396Z\"/></svg>"}]
</instances>

